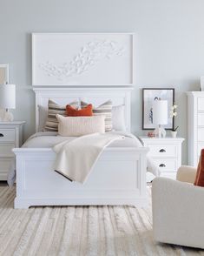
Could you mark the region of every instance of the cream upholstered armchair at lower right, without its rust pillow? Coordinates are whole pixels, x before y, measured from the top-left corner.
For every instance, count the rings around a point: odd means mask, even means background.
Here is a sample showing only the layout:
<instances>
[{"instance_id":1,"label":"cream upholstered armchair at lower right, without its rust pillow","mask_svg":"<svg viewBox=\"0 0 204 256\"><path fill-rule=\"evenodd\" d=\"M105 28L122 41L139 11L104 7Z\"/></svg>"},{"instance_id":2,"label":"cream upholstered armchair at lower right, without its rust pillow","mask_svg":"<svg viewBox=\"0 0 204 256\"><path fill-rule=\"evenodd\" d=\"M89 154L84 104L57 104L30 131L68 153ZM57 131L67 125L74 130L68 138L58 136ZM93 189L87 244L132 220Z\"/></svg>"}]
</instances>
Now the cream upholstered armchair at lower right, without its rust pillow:
<instances>
[{"instance_id":1,"label":"cream upholstered armchair at lower right, without its rust pillow","mask_svg":"<svg viewBox=\"0 0 204 256\"><path fill-rule=\"evenodd\" d=\"M156 178L152 185L156 241L204 248L204 188L194 186L196 169L181 166L177 180Z\"/></svg>"}]
</instances>

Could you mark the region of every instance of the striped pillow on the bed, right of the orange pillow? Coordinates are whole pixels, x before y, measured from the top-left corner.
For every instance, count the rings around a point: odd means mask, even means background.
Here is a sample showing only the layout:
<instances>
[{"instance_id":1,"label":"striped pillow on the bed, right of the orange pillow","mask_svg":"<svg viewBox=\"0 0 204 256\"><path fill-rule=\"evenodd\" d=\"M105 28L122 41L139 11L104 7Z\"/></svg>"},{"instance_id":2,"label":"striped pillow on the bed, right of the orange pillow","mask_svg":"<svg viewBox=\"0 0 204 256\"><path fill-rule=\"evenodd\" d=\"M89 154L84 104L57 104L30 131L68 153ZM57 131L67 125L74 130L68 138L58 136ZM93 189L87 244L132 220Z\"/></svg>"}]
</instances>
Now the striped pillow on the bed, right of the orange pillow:
<instances>
[{"instance_id":1,"label":"striped pillow on the bed, right of the orange pillow","mask_svg":"<svg viewBox=\"0 0 204 256\"><path fill-rule=\"evenodd\" d=\"M86 107L88 103L81 101L82 109ZM92 109L94 116L105 116L105 131L112 130L112 101L99 105L98 107L93 107Z\"/></svg>"}]
</instances>

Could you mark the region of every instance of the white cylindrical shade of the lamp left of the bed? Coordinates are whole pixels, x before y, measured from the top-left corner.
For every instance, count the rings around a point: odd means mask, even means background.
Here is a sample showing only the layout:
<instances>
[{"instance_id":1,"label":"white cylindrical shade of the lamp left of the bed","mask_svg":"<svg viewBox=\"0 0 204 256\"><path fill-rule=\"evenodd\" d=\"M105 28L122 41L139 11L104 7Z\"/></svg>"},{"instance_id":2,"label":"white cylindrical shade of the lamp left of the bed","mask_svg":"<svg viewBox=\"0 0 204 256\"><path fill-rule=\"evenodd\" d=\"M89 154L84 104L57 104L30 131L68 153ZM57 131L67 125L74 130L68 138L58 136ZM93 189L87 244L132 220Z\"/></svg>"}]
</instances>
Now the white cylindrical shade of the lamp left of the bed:
<instances>
[{"instance_id":1,"label":"white cylindrical shade of the lamp left of the bed","mask_svg":"<svg viewBox=\"0 0 204 256\"><path fill-rule=\"evenodd\" d=\"M16 109L15 84L0 84L0 108Z\"/></svg>"}]
</instances>

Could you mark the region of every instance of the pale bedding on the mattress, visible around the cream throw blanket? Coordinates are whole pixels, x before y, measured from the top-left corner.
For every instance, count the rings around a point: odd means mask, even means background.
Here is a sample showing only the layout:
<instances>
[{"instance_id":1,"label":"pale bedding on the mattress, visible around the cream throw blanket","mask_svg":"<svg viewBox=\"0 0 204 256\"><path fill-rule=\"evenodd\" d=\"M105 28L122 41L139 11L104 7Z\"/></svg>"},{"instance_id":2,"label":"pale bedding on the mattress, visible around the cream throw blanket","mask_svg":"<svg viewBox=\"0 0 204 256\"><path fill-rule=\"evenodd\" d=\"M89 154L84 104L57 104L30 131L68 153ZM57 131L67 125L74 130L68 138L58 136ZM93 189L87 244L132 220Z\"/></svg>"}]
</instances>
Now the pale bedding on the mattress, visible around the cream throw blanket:
<instances>
[{"instance_id":1,"label":"pale bedding on the mattress, visible around the cream throw blanket","mask_svg":"<svg viewBox=\"0 0 204 256\"><path fill-rule=\"evenodd\" d=\"M122 140L115 140L113 143L108 145L108 147L141 147L141 141L136 138L133 134L125 132L125 131L109 131L109 133L119 134L124 136ZM56 131L41 131L36 132L30 138L26 140L23 144L23 148L52 148L54 145L62 143L64 140L72 141L76 137L62 137L59 136ZM152 158L148 157L147 160L147 171L152 172L155 176L158 176L159 169L155 165ZM10 167L10 173L8 176L8 184L13 185L16 172L15 172L15 164L12 163Z\"/></svg>"}]
</instances>

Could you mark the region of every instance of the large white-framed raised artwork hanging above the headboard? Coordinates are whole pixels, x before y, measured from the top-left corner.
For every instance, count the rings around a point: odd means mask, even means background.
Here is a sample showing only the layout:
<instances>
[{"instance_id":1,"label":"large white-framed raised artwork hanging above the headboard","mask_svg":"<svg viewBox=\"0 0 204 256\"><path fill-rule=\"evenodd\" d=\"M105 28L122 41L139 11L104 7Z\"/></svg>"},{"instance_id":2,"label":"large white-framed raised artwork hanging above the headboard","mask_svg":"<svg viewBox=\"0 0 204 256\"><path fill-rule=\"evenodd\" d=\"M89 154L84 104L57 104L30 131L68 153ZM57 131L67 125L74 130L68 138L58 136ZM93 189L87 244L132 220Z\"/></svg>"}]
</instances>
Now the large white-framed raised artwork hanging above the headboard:
<instances>
[{"instance_id":1,"label":"large white-framed raised artwork hanging above the headboard","mask_svg":"<svg viewBox=\"0 0 204 256\"><path fill-rule=\"evenodd\" d=\"M32 84L135 84L134 33L33 33Z\"/></svg>"}]
</instances>

